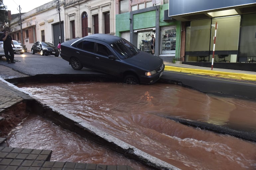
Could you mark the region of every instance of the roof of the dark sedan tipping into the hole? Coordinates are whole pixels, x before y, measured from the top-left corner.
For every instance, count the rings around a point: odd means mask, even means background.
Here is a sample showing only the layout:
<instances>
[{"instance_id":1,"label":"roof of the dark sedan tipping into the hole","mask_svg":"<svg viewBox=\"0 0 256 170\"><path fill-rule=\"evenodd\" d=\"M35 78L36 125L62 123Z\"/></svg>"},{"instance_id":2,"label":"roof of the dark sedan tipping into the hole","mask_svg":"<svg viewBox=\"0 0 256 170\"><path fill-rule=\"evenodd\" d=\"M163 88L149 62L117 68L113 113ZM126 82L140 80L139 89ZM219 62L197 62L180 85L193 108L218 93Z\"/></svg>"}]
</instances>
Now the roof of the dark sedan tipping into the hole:
<instances>
[{"instance_id":1,"label":"roof of the dark sedan tipping into the hole","mask_svg":"<svg viewBox=\"0 0 256 170\"><path fill-rule=\"evenodd\" d=\"M83 39L99 40L101 42L111 44L111 43L121 40L123 38L115 36L115 35L109 35L109 34L91 34L86 37L83 37Z\"/></svg>"}]
</instances>

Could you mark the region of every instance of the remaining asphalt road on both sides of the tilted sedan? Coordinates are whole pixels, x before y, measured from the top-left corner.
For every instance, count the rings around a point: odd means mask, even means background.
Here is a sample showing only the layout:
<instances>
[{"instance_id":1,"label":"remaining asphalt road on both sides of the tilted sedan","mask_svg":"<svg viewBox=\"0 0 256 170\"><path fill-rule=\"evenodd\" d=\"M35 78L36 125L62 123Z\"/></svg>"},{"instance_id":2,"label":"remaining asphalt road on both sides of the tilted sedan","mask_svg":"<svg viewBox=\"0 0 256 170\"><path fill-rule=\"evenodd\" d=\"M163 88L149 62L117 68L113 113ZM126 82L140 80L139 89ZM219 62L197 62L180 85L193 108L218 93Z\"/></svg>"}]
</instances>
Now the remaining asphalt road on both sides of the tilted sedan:
<instances>
[{"instance_id":1,"label":"remaining asphalt road on both sides of the tilted sedan","mask_svg":"<svg viewBox=\"0 0 256 170\"><path fill-rule=\"evenodd\" d=\"M56 75L56 77L60 77L61 75L105 75L87 68L74 70L67 61L63 60L61 57L55 56L33 55L27 52L23 55L15 54L14 60L16 62L15 64L7 64L5 57L3 57L0 59L0 64L30 76L47 74ZM163 76L159 81L180 84L184 87L189 87L203 93L256 100L255 81L226 79L176 71L164 71Z\"/></svg>"}]
</instances>

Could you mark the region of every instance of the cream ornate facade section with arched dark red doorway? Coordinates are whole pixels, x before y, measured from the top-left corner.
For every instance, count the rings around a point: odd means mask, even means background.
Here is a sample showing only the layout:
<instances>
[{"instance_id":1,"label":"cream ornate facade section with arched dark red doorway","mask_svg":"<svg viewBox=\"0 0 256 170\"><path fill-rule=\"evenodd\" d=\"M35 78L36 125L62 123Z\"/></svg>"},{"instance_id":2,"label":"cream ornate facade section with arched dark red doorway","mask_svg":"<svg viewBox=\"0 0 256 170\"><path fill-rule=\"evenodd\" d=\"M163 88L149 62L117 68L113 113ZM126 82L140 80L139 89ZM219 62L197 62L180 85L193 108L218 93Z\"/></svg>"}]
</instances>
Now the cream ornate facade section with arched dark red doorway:
<instances>
[{"instance_id":1,"label":"cream ornate facade section with arched dark red doorway","mask_svg":"<svg viewBox=\"0 0 256 170\"><path fill-rule=\"evenodd\" d=\"M103 33L115 35L113 0L65 0L66 39Z\"/></svg>"}]
</instances>

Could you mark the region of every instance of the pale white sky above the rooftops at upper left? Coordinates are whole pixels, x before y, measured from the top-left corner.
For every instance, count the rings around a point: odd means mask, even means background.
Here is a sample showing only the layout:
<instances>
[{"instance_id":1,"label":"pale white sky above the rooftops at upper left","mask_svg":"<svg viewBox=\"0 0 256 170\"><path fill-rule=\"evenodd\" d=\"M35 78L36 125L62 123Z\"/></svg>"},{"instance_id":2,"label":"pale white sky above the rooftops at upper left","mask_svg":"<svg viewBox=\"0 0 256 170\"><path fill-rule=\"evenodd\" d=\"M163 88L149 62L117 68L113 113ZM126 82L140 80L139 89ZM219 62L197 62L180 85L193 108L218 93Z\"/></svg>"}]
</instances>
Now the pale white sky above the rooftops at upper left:
<instances>
[{"instance_id":1,"label":"pale white sky above the rooftops at upper left","mask_svg":"<svg viewBox=\"0 0 256 170\"><path fill-rule=\"evenodd\" d=\"M3 0L7 10L11 11L11 14L17 14L19 12L19 5L21 7L21 13L26 13L34 8L44 5L52 0Z\"/></svg>"}]
</instances>

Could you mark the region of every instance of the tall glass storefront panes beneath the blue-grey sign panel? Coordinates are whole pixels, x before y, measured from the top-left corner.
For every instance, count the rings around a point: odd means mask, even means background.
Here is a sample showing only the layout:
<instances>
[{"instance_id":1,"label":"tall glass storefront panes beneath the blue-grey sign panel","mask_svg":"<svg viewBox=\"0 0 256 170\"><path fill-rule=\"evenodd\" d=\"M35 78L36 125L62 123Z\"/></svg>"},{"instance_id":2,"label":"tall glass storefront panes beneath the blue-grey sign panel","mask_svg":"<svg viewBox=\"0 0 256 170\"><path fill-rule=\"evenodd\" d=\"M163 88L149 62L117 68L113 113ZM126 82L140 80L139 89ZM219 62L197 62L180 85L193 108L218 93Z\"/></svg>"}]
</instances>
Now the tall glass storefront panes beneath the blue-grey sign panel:
<instances>
[{"instance_id":1,"label":"tall glass storefront panes beneath the blue-grey sign panel","mask_svg":"<svg viewBox=\"0 0 256 170\"><path fill-rule=\"evenodd\" d=\"M214 62L254 62L256 14L188 21L185 61L211 62L216 22Z\"/></svg>"}]
</instances>

